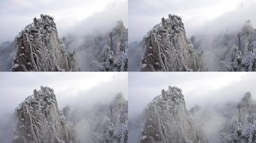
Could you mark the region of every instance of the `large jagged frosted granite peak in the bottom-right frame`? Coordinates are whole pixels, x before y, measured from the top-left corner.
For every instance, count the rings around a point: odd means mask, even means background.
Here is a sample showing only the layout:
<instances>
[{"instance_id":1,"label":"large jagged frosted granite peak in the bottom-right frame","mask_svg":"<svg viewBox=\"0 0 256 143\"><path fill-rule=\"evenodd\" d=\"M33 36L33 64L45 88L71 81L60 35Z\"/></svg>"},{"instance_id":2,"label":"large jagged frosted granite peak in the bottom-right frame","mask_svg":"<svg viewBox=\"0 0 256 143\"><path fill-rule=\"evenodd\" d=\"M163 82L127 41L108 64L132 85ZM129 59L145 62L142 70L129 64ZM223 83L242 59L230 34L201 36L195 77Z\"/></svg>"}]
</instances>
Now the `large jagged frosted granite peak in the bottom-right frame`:
<instances>
[{"instance_id":1,"label":"large jagged frosted granite peak in the bottom-right frame","mask_svg":"<svg viewBox=\"0 0 256 143\"><path fill-rule=\"evenodd\" d=\"M182 90L169 86L145 109L140 143L208 143L203 131L186 109Z\"/></svg>"}]
</instances>

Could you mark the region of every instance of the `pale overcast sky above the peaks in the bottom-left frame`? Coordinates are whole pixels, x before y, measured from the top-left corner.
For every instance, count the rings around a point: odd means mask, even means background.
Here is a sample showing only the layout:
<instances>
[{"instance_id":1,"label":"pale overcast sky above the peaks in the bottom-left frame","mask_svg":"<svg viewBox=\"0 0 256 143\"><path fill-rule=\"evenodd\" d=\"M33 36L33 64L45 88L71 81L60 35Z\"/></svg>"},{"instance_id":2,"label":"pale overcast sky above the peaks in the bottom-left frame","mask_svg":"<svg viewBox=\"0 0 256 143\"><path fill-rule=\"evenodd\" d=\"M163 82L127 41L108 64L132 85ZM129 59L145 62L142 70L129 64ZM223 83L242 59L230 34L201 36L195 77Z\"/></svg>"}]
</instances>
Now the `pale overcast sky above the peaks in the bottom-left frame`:
<instances>
[{"instance_id":1,"label":"pale overcast sky above the peaks in the bottom-left frame","mask_svg":"<svg viewBox=\"0 0 256 143\"><path fill-rule=\"evenodd\" d=\"M41 85L55 90L59 109L68 104L90 107L96 102L111 102L118 92L128 99L127 78L125 72L1 72L0 115L14 112Z\"/></svg>"}]
</instances>

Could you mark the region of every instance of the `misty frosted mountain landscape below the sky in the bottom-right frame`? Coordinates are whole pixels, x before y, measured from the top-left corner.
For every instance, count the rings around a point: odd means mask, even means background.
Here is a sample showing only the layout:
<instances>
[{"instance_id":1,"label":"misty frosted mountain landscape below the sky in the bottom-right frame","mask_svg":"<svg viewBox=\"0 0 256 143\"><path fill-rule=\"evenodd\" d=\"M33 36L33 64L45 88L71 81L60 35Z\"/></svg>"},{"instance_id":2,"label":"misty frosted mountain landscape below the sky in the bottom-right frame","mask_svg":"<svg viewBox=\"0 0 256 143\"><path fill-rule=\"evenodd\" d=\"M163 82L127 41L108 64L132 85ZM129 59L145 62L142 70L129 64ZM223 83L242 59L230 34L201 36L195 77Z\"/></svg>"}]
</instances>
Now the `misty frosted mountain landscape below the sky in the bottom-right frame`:
<instances>
[{"instance_id":1,"label":"misty frosted mountain landscape below the sky in the bottom-right frame","mask_svg":"<svg viewBox=\"0 0 256 143\"><path fill-rule=\"evenodd\" d=\"M246 92L238 102L186 108L182 89L162 90L129 120L129 143L254 143L256 101Z\"/></svg>"}]
</instances>

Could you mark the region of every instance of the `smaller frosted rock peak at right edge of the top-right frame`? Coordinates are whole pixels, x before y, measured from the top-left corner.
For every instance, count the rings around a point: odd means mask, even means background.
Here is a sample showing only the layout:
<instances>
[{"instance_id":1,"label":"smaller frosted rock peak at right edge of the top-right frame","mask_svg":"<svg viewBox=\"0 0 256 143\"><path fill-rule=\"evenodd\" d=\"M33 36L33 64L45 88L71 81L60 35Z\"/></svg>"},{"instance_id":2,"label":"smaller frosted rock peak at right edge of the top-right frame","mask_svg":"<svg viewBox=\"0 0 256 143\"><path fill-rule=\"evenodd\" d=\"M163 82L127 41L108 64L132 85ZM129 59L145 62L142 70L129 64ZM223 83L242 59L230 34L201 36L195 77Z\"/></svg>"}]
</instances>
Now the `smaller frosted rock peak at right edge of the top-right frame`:
<instances>
[{"instance_id":1,"label":"smaller frosted rock peak at right edge of the top-right frame","mask_svg":"<svg viewBox=\"0 0 256 143\"><path fill-rule=\"evenodd\" d=\"M231 48L231 62L220 61L219 71L256 71L256 29L248 20Z\"/></svg>"}]
</instances>

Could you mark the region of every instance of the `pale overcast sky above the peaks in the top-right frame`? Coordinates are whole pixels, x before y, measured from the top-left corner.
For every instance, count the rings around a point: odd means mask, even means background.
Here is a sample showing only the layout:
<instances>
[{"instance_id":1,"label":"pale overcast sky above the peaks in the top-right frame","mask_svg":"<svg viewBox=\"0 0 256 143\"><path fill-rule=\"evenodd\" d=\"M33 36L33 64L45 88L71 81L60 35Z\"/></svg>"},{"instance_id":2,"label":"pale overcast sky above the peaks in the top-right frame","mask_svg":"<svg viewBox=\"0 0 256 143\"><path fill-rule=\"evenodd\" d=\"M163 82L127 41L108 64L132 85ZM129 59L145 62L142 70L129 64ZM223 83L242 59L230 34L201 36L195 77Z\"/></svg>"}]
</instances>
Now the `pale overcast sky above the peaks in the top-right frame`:
<instances>
[{"instance_id":1,"label":"pale overcast sky above the peaks in the top-right frame","mask_svg":"<svg viewBox=\"0 0 256 143\"><path fill-rule=\"evenodd\" d=\"M187 36L240 28L250 19L256 27L256 0L129 0L129 42L144 35L168 14L183 18Z\"/></svg>"}]
</instances>

